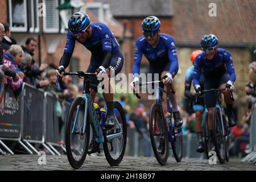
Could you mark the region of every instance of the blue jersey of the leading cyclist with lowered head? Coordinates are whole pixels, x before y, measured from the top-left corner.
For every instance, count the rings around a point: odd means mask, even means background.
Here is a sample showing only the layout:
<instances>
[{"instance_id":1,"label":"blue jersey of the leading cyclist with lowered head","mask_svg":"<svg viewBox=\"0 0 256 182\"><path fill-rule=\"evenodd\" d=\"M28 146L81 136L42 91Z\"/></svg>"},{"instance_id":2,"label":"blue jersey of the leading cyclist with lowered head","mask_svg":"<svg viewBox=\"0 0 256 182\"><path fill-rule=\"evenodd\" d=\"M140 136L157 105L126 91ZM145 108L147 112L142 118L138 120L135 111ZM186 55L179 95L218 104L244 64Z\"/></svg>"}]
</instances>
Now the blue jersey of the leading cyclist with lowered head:
<instances>
[{"instance_id":1,"label":"blue jersey of the leading cyclist with lowered head","mask_svg":"<svg viewBox=\"0 0 256 182\"><path fill-rule=\"evenodd\" d=\"M90 23L90 26L92 27L92 37L86 39L84 43L80 43L92 52L93 56L102 57L105 50L114 53L119 49L119 44L108 26L104 23ZM73 53L76 40L72 32L68 31L64 52Z\"/></svg>"}]
</instances>

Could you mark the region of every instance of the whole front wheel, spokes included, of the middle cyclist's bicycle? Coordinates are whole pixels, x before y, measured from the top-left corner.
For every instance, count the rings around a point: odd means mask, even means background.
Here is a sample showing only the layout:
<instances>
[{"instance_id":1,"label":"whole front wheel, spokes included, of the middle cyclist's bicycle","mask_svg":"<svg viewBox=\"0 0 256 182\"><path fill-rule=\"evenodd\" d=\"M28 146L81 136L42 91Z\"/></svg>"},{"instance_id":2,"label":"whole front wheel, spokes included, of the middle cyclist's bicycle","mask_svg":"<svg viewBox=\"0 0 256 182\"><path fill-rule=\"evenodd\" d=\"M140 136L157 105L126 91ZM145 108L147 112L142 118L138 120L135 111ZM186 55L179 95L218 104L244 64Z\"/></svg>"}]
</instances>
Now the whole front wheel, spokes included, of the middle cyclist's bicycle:
<instances>
[{"instance_id":1,"label":"whole front wheel, spokes included, of the middle cyclist's bicycle","mask_svg":"<svg viewBox=\"0 0 256 182\"><path fill-rule=\"evenodd\" d=\"M153 104L150 108L150 139L151 145L159 164L164 165L169 155L169 139L164 117L161 115L160 105Z\"/></svg>"}]
</instances>

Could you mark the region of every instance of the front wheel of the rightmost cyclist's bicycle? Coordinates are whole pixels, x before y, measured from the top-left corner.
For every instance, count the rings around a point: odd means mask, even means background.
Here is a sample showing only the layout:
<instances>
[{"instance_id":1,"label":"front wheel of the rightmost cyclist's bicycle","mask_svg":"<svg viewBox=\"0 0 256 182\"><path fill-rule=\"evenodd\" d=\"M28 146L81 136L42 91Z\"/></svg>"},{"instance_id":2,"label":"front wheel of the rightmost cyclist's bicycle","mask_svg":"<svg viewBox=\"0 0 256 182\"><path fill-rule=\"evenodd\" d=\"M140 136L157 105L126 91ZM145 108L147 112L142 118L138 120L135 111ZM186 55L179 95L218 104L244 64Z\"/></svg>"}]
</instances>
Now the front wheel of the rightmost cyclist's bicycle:
<instances>
[{"instance_id":1,"label":"front wheel of the rightmost cyclist's bicycle","mask_svg":"<svg viewBox=\"0 0 256 182\"><path fill-rule=\"evenodd\" d=\"M226 137L222 133L221 113L220 110L218 110L216 107L213 109L212 122L213 142L215 144L215 150L218 156L218 160L220 160L221 164L224 164L226 157Z\"/></svg>"}]
</instances>

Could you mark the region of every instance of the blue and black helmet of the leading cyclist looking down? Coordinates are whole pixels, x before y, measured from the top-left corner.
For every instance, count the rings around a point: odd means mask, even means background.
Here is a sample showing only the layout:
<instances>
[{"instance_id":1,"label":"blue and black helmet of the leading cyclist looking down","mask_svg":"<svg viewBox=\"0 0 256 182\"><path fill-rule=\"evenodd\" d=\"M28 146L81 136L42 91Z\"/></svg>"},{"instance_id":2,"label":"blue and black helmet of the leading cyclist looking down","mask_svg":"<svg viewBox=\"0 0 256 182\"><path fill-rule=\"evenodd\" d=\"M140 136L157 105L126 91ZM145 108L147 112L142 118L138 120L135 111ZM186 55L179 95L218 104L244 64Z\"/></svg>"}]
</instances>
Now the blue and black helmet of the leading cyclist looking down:
<instances>
[{"instance_id":1,"label":"blue and black helmet of the leading cyclist looking down","mask_svg":"<svg viewBox=\"0 0 256 182\"><path fill-rule=\"evenodd\" d=\"M68 28L71 32L80 33L90 24L89 16L84 11L79 11L68 20Z\"/></svg>"}]
</instances>

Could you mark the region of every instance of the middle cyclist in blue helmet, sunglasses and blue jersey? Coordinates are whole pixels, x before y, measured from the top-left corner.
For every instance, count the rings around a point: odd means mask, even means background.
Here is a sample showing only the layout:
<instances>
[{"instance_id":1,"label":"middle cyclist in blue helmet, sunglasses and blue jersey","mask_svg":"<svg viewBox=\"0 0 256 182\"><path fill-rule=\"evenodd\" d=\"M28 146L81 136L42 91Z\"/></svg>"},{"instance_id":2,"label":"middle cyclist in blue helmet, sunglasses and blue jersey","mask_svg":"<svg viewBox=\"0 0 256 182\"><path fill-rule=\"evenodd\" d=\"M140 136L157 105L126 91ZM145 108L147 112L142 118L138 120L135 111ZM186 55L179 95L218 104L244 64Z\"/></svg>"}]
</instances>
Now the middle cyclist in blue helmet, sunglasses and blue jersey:
<instances>
[{"instance_id":1,"label":"middle cyclist in blue helmet, sunglasses and blue jersey","mask_svg":"<svg viewBox=\"0 0 256 182\"><path fill-rule=\"evenodd\" d=\"M166 76L163 79L163 83L174 86L173 78L179 69L174 38L168 34L160 34L160 20L156 16L148 16L142 21L142 31L143 36L139 37L135 44L133 82L130 84L131 87L135 90L134 82L139 81L142 55L150 63L150 73L158 73L159 80ZM152 77L154 79L154 76ZM159 84L162 88L164 87L163 83ZM180 127L183 122L177 107L176 94L171 93L171 104L175 126Z\"/></svg>"}]
</instances>

